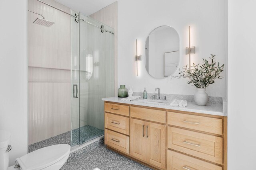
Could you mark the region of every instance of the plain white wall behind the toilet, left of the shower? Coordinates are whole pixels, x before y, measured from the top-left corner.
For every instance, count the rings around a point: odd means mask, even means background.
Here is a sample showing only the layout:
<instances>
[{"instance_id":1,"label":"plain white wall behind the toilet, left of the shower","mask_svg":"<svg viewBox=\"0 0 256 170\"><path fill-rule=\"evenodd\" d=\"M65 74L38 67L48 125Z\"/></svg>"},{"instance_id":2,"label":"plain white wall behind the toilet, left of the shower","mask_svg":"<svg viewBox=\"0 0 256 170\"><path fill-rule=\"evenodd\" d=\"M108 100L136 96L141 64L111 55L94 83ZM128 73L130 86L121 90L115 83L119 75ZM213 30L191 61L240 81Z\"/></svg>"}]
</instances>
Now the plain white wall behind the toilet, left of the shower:
<instances>
[{"instance_id":1,"label":"plain white wall behind the toilet, left of the shower","mask_svg":"<svg viewBox=\"0 0 256 170\"><path fill-rule=\"evenodd\" d=\"M0 129L10 131L10 165L27 153L27 1L0 1Z\"/></svg>"}]
</instances>

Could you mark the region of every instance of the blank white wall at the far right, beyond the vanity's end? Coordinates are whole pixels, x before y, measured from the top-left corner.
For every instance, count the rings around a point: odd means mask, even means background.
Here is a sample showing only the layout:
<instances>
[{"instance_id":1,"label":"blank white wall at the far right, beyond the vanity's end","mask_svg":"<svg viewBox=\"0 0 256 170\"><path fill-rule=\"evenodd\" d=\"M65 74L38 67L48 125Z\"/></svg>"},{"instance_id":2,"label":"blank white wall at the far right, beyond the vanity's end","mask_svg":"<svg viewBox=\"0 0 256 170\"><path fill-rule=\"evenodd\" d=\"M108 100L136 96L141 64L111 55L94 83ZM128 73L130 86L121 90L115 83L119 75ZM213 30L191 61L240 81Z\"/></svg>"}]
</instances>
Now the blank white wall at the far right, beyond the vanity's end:
<instances>
[{"instance_id":1,"label":"blank white wall at the far right, beyond the vanity's end","mask_svg":"<svg viewBox=\"0 0 256 170\"><path fill-rule=\"evenodd\" d=\"M228 0L228 169L255 169L255 0Z\"/></svg>"}]
</instances>

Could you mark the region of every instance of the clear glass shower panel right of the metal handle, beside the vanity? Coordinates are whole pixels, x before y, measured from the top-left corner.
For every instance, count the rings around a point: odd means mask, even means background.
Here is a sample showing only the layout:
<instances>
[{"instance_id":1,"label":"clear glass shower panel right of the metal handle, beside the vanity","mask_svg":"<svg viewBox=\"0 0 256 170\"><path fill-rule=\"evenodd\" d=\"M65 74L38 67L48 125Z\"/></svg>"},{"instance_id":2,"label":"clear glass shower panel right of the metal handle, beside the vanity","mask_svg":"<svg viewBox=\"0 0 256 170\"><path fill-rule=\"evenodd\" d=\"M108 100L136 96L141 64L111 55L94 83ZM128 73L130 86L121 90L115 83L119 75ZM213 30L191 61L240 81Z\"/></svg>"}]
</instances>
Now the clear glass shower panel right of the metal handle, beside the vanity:
<instances>
[{"instance_id":1,"label":"clear glass shower panel right of the metal handle, beside the vanity","mask_svg":"<svg viewBox=\"0 0 256 170\"><path fill-rule=\"evenodd\" d=\"M104 102L114 96L114 35L102 23L79 14L80 141L104 134ZM104 29L114 32L111 27Z\"/></svg>"}]
</instances>

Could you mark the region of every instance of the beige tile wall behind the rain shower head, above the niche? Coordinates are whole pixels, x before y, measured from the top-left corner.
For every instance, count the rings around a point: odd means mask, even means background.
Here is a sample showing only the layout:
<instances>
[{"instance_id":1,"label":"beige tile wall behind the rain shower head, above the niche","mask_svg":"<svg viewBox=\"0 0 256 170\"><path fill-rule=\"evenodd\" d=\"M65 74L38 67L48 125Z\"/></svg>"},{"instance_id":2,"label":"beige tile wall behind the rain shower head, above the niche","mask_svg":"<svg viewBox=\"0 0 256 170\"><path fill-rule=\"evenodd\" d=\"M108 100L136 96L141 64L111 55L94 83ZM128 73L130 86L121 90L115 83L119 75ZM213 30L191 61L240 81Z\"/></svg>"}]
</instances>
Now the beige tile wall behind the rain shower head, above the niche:
<instances>
[{"instance_id":1,"label":"beige tile wall behind the rain shower head, above the niche","mask_svg":"<svg viewBox=\"0 0 256 170\"><path fill-rule=\"evenodd\" d=\"M63 8L61 4L54 4ZM28 66L70 70L70 16L35 0L29 0L28 9L55 22L51 27L34 24L40 16L28 12Z\"/></svg>"}]
</instances>

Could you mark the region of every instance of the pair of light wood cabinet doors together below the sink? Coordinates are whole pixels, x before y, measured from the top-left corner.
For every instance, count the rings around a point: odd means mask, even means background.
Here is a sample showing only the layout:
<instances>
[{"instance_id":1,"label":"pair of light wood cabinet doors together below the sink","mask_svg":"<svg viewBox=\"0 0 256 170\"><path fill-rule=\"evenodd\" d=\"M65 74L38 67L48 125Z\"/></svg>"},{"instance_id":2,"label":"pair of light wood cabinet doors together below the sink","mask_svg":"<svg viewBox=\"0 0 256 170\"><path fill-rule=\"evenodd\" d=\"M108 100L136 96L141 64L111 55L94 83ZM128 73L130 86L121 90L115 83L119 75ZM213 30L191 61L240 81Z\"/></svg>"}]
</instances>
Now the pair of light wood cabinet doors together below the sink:
<instances>
[{"instance_id":1,"label":"pair of light wood cabinet doors together below the sink","mask_svg":"<svg viewBox=\"0 0 256 170\"><path fill-rule=\"evenodd\" d=\"M131 118L130 127L131 156L165 169L165 125Z\"/></svg>"}]
</instances>

